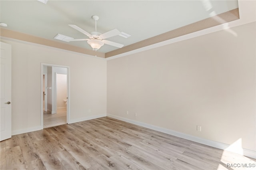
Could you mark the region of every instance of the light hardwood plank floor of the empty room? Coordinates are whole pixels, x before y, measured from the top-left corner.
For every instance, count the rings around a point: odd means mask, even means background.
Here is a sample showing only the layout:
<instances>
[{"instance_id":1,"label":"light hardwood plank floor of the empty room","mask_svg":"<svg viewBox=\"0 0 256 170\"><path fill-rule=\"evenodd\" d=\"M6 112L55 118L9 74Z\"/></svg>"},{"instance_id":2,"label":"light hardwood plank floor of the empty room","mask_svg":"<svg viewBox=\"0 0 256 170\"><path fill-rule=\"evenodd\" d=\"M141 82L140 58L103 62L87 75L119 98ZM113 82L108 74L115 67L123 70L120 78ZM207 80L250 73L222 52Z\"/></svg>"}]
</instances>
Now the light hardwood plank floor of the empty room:
<instances>
[{"instance_id":1,"label":"light hardwood plank floor of the empty room","mask_svg":"<svg viewBox=\"0 0 256 170\"><path fill-rule=\"evenodd\" d=\"M242 170L227 164L256 163L109 117L18 134L0 144L1 170Z\"/></svg>"}]
</instances>

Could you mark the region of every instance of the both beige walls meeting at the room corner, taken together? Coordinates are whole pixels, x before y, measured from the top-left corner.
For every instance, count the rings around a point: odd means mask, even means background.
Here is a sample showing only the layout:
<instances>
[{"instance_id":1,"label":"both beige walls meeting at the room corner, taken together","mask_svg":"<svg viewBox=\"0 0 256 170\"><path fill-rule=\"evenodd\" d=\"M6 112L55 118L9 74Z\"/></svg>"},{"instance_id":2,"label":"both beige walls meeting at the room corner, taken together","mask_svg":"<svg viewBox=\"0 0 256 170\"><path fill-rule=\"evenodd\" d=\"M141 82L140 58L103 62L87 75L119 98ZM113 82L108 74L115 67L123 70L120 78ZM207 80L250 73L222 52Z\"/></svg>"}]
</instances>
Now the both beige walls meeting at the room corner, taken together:
<instances>
[{"instance_id":1,"label":"both beige walls meeting at the room corner, taken together","mask_svg":"<svg viewBox=\"0 0 256 170\"><path fill-rule=\"evenodd\" d=\"M70 66L71 121L107 112L255 151L255 24L108 61L1 40L12 45L12 131L40 127L40 67L50 63Z\"/></svg>"}]
</instances>

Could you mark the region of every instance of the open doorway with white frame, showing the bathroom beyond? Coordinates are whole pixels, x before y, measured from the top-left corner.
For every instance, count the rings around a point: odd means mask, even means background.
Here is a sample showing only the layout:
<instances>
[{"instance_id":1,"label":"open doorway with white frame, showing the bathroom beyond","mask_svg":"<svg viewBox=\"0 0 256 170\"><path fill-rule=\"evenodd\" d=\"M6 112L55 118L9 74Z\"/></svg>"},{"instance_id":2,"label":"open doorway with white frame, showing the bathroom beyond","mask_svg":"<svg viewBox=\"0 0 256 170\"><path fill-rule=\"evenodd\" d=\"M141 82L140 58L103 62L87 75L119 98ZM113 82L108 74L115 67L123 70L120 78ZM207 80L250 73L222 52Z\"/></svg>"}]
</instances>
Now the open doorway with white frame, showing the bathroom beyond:
<instances>
[{"instance_id":1,"label":"open doorway with white frame, showing the bathroom beyond","mask_svg":"<svg viewBox=\"0 0 256 170\"><path fill-rule=\"evenodd\" d=\"M41 64L42 128L67 124L69 120L70 68L64 65Z\"/></svg>"}]
</instances>

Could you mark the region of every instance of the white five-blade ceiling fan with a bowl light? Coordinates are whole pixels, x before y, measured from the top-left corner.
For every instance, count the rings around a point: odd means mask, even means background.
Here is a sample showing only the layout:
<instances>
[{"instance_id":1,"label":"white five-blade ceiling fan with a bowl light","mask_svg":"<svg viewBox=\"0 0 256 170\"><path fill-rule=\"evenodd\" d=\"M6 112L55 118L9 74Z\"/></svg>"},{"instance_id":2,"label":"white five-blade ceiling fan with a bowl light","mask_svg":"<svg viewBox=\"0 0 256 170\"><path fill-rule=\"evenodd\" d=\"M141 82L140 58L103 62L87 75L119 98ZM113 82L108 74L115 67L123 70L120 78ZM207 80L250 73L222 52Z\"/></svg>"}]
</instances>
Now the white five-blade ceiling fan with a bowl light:
<instances>
[{"instance_id":1,"label":"white five-blade ceiling fan with a bowl light","mask_svg":"<svg viewBox=\"0 0 256 170\"><path fill-rule=\"evenodd\" d=\"M122 36L124 38L130 37L130 35L128 35L128 34L126 34L124 32L120 32L117 29L111 30L109 32L105 32L104 34L100 34L99 32L97 32L97 21L98 21L99 17L94 15L94 16L92 16L92 19L95 20L95 32L91 32L91 34L89 34L88 32L84 31L82 28L79 28L76 25L72 25L72 24L69 25L70 27L72 27L72 28L78 30L79 32L82 32L86 36L88 36L89 39L74 39L74 38L68 37L68 38L63 38L62 40L66 41L66 42L87 41L87 43L92 47L92 49L97 51L104 44L112 45L112 46L118 47L118 48L122 48L124 46L123 44L120 44L120 43L116 43L116 42L111 42L111 41L105 40L107 38L110 38L110 37L113 37L113 36L117 36L117 35L120 35L120 36ZM60 35L60 34L58 34L58 35ZM60 35L60 36L63 36L63 35Z\"/></svg>"}]
</instances>

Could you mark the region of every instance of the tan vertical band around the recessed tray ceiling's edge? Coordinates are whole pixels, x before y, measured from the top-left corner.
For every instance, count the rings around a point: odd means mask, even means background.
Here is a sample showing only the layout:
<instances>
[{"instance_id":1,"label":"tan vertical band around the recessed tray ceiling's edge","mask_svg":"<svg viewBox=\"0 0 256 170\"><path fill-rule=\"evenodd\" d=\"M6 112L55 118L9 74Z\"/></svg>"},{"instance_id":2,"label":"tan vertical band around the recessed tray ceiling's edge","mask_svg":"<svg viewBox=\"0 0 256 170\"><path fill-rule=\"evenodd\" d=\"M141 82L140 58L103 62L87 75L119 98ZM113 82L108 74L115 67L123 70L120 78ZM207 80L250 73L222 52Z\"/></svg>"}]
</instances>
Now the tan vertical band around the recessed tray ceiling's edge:
<instances>
[{"instance_id":1,"label":"tan vertical band around the recessed tray ceiling's edge","mask_svg":"<svg viewBox=\"0 0 256 170\"><path fill-rule=\"evenodd\" d=\"M231 21L238 20L238 19L239 19L239 10L238 10L238 8L236 8L234 10L230 10L228 12L224 12L222 14L219 14L219 15L216 15L216 16L213 16L210 18L206 18L204 20L195 22L193 24L189 24L187 26L177 28L175 30L166 32L164 34L160 34L158 36L154 36L152 38L148 38L146 40L143 40L143 41L131 44L131 45L127 45L125 47L122 47L120 49L116 49L114 51L110 51L107 53L101 53L98 51L93 51L90 49L77 47L77 46L69 45L66 43L56 42L54 40L47 40L44 38L31 36L28 34L15 32L12 30L7 30L5 28L0 29L0 36L6 37L6 38L22 40L25 42L38 43L41 45L47 45L50 47L56 47L56 48L60 48L60 49L66 49L66 50L74 51L74 52L78 52L78 53L94 55L97 57L108 58L108 57L116 56L116 55L119 55L122 53L126 53L128 51L140 49L142 47L153 45L153 44L156 44L159 42L164 42L166 40L184 36L186 34L204 30L204 29L207 29L207 28L210 28L213 26L217 26L217 25L224 24L224 23L231 22Z\"/></svg>"}]
</instances>

